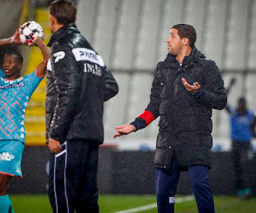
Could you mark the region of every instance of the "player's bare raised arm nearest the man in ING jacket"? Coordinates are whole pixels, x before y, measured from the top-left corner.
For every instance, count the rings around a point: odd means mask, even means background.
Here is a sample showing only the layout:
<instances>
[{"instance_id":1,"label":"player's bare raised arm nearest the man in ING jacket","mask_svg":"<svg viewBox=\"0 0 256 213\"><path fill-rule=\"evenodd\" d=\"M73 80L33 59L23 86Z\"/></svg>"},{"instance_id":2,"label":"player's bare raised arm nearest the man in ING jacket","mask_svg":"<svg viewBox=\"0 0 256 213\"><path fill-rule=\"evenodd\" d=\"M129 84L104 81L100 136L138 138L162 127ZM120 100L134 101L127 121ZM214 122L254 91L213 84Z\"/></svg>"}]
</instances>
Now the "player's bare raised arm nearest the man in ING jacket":
<instances>
[{"instance_id":1,"label":"player's bare raised arm nearest the man in ING jacket","mask_svg":"<svg viewBox=\"0 0 256 213\"><path fill-rule=\"evenodd\" d=\"M41 50L41 53L44 57L44 60L36 68L37 76L42 77L46 73L46 66L49 60L49 49L48 47L46 47L46 45L44 44L44 42L41 40L40 37L38 37L33 44L38 46L38 48Z\"/></svg>"}]
</instances>

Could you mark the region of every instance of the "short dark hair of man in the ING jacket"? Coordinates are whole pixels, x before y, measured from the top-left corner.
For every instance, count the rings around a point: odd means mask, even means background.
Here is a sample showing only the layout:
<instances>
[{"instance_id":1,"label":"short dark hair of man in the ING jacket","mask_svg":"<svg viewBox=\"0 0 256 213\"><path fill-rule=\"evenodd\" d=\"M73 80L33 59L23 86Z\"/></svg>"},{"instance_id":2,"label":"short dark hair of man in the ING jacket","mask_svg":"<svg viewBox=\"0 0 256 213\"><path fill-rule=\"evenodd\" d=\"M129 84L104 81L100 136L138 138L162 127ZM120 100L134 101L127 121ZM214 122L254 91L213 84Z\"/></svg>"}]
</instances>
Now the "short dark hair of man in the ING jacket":
<instances>
[{"instance_id":1,"label":"short dark hair of man in the ING jacket","mask_svg":"<svg viewBox=\"0 0 256 213\"><path fill-rule=\"evenodd\" d=\"M55 16L61 25L74 23L77 8L70 0L55 0L49 5L49 14Z\"/></svg>"}]
</instances>

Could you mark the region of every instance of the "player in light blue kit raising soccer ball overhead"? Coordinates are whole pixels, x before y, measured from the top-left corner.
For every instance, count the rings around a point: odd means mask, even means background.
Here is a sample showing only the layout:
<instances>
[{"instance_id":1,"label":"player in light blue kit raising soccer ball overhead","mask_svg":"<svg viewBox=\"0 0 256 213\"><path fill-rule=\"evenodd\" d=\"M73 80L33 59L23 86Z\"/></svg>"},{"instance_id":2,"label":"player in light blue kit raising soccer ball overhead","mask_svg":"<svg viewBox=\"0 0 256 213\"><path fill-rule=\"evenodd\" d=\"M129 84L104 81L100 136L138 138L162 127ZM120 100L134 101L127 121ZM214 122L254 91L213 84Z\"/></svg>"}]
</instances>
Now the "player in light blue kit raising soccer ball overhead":
<instances>
[{"instance_id":1,"label":"player in light blue kit raising soccer ball overhead","mask_svg":"<svg viewBox=\"0 0 256 213\"><path fill-rule=\"evenodd\" d=\"M0 46L20 44L19 29L10 38L0 40ZM12 176L22 176L21 157L25 144L25 112L33 91L44 78L49 49L38 37L32 45L38 46L44 60L35 71L20 77L23 58L16 49L9 49L3 57L3 71L0 70L0 211L14 212L8 195Z\"/></svg>"}]
</instances>

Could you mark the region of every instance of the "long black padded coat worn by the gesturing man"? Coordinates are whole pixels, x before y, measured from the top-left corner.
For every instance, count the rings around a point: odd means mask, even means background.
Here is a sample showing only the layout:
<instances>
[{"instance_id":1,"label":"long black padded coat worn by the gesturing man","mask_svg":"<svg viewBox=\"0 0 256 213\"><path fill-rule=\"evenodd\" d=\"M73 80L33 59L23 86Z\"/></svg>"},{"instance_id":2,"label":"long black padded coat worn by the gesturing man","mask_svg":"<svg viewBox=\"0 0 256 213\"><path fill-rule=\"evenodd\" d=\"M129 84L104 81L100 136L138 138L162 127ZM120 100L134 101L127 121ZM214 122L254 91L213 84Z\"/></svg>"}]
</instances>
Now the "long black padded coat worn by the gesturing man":
<instances>
[{"instance_id":1,"label":"long black padded coat worn by the gesturing man","mask_svg":"<svg viewBox=\"0 0 256 213\"><path fill-rule=\"evenodd\" d=\"M189 84L200 83L202 94L192 95L181 78ZM212 108L223 109L226 101L218 66L195 47L181 67L177 67L172 55L159 62L146 109L154 118L160 116L154 166L170 169L175 153L181 166L204 164L210 167Z\"/></svg>"}]
</instances>

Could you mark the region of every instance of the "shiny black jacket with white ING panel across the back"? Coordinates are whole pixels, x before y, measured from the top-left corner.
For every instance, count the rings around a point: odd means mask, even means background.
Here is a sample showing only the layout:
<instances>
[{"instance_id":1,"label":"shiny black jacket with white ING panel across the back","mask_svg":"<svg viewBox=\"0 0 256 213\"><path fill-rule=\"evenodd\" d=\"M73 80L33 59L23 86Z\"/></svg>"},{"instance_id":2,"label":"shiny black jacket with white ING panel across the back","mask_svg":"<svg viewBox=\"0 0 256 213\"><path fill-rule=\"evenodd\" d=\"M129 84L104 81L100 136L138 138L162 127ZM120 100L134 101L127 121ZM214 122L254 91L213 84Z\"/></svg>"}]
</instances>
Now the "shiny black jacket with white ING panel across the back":
<instances>
[{"instance_id":1,"label":"shiny black jacket with white ING panel across the back","mask_svg":"<svg viewBox=\"0 0 256 213\"><path fill-rule=\"evenodd\" d=\"M100 55L74 24L61 27L49 41L46 138L103 142L103 102L118 85Z\"/></svg>"}]
</instances>

